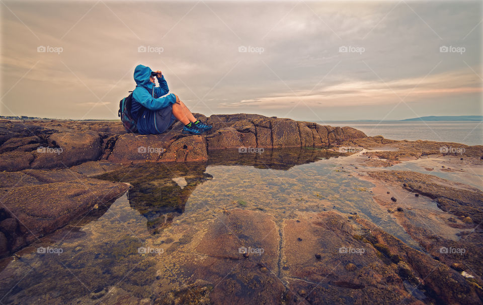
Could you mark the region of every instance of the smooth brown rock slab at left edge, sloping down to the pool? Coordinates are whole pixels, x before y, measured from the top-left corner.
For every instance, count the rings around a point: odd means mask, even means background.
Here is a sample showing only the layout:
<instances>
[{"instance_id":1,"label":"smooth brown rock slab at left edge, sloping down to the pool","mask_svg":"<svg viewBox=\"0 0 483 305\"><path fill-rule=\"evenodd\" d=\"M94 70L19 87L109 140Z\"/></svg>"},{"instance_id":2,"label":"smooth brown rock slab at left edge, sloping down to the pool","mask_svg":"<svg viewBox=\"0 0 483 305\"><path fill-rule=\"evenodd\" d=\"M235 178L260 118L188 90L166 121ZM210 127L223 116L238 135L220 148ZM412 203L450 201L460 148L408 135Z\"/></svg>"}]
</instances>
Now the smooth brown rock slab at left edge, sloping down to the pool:
<instances>
[{"instance_id":1,"label":"smooth brown rock slab at left edge, sloping down to the pool","mask_svg":"<svg viewBox=\"0 0 483 305\"><path fill-rule=\"evenodd\" d=\"M7 240L0 245L3 255L63 227L96 205L107 204L129 188L126 183L75 176L51 183L29 176L32 185L0 188L2 222L10 222L8 226L0 223L0 238Z\"/></svg>"}]
</instances>

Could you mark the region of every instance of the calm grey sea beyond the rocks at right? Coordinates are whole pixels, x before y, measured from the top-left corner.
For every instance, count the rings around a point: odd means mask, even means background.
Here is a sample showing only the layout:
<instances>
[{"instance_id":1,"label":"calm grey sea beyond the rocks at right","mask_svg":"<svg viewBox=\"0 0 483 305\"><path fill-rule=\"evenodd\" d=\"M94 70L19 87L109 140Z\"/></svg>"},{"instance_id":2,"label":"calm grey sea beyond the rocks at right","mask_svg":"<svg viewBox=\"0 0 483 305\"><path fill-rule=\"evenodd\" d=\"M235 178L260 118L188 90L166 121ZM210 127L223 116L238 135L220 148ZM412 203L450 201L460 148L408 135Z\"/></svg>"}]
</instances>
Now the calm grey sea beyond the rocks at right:
<instances>
[{"instance_id":1,"label":"calm grey sea beyond the rocks at right","mask_svg":"<svg viewBox=\"0 0 483 305\"><path fill-rule=\"evenodd\" d=\"M391 140L429 140L483 145L483 121L314 121L321 125L350 126L368 136Z\"/></svg>"}]
</instances>

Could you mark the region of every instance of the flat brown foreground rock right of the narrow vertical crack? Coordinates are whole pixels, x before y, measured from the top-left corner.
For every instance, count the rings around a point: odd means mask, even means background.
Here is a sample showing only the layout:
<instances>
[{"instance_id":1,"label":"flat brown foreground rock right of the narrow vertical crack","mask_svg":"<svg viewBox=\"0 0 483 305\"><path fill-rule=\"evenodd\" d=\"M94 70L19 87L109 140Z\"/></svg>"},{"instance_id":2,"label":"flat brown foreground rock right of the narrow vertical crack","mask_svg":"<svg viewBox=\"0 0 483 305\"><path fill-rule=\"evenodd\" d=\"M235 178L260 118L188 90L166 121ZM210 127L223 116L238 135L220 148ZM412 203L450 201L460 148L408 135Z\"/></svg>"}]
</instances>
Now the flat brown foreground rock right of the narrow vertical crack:
<instances>
[{"instance_id":1,"label":"flat brown foreground rock right of the narrow vertical crack","mask_svg":"<svg viewBox=\"0 0 483 305\"><path fill-rule=\"evenodd\" d=\"M310 304L389 304L406 298L395 265L355 239L354 231L347 219L332 212L284 221L282 276L299 298Z\"/></svg>"}]
</instances>

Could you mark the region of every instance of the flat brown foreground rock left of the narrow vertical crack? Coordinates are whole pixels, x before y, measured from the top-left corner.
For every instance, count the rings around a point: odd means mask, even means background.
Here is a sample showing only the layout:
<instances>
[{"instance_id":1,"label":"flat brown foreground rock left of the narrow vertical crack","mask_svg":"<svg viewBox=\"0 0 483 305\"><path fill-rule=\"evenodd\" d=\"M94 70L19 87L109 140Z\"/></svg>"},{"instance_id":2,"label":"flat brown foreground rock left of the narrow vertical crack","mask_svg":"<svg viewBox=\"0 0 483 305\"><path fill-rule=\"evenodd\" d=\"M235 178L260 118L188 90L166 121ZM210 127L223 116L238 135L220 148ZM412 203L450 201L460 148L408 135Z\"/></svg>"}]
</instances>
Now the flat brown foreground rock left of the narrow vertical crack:
<instances>
[{"instance_id":1,"label":"flat brown foreground rock left of the narrow vertical crack","mask_svg":"<svg viewBox=\"0 0 483 305\"><path fill-rule=\"evenodd\" d=\"M179 229L174 227L173 233L178 235ZM271 216L234 209L195 231L160 255L163 277L180 287L199 279L207 281L209 298L215 304L281 303L285 287L276 276L280 236ZM244 256L245 251L248 255ZM176 294L176 289L166 288L155 289L161 299Z\"/></svg>"}]
</instances>

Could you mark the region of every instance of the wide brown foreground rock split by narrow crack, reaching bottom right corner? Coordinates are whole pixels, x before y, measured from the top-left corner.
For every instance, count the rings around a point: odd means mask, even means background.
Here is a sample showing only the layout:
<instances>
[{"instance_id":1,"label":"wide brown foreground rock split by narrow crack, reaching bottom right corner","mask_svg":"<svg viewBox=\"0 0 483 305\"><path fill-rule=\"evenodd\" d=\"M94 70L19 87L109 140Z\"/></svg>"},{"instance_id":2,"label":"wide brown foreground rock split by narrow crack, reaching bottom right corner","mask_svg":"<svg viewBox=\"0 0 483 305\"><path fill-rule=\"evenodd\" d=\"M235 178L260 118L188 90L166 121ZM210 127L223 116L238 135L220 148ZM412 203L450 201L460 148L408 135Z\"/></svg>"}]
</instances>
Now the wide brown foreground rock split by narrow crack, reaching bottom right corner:
<instances>
[{"instance_id":1,"label":"wide brown foreground rock split by narrow crack, reaching bottom right corner","mask_svg":"<svg viewBox=\"0 0 483 305\"><path fill-rule=\"evenodd\" d=\"M184 301L195 301L193 290L204 289L214 304L423 304L429 295L479 302L461 274L369 221L335 212L298 216L277 224L267 213L233 209L191 233L188 225L171 228L177 241L154 258L170 282L153 289L155 299L180 299L183 290L191 291ZM249 247L249 255L240 253Z\"/></svg>"}]
</instances>

